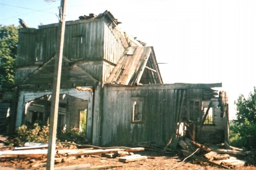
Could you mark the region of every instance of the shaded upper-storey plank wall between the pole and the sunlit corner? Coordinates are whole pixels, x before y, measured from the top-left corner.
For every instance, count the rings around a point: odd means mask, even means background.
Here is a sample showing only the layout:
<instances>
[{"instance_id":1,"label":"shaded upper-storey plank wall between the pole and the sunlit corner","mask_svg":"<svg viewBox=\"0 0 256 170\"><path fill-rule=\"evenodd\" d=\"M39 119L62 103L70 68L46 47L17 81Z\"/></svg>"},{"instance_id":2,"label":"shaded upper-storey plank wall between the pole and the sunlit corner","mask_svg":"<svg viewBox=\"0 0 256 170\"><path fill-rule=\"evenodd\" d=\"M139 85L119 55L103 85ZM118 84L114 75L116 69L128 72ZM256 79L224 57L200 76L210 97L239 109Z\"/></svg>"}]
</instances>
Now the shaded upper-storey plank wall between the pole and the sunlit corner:
<instances>
[{"instance_id":1,"label":"shaded upper-storey plank wall between the pole and the sunlit corner","mask_svg":"<svg viewBox=\"0 0 256 170\"><path fill-rule=\"evenodd\" d=\"M68 25L65 27L63 55L74 61L102 60L103 39L103 21Z\"/></svg>"}]
</instances>

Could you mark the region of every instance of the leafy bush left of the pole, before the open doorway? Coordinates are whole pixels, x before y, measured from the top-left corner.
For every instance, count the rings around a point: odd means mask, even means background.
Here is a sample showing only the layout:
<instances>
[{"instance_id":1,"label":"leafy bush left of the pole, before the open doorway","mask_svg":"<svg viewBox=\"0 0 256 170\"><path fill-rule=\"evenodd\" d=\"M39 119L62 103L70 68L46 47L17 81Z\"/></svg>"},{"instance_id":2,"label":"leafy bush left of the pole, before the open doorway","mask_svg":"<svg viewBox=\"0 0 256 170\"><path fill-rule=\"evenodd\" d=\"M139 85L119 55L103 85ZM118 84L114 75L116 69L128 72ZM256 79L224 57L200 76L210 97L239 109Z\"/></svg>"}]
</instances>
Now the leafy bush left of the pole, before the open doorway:
<instances>
[{"instance_id":1,"label":"leafy bush left of the pole, before the open doorway","mask_svg":"<svg viewBox=\"0 0 256 170\"><path fill-rule=\"evenodd\" d=\"M28 129L26 125L17 128L18 137L16 145L23 145L25 142L47 143L49 137L49 126L33 125L33 129Z\"/></svg>"}]
</instances>

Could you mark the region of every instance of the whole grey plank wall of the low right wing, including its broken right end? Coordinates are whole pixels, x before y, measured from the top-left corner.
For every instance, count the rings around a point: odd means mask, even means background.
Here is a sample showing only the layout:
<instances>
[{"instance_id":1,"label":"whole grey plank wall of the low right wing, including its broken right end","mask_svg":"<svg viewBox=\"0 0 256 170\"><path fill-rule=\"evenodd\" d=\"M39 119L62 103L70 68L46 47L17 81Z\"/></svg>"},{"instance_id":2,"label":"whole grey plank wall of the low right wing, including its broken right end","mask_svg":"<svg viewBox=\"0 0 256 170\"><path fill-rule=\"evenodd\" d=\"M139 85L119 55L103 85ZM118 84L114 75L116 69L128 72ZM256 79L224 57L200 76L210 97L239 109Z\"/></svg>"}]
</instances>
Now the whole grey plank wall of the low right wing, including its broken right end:
<instances>
[{"instance_id":1,"label":"whole grey plank wall of the low right wing, including its broken right end","mask_svg":"<svg viewBox=\"0 0 256 170\"><path fill-rule=\"evenodd\" d=\"M175 86L178 89L170 88ZM200 87L203 85L190 86ZM153 141L157 145L165 146L175 131L179 121L179 113L183 115L183 120L186 121L188 101L192 98L203 101L202 89L187 89L189 88L187 84L174 84L169 85L169 88L166 87L168 85L159 85L155 88L150 86L105 86L104 109L101 119L101 145L120 146ZM183 106L180 106L182 103L181 94L185 90L182 87L187 88L185 88L186 94ZM132 97L142 97L144 100L142 122L132 122ZM207 105L207 102L203 104ZM219 108L214 108L214 113L215 126L205 125L201 134L204 134L208 140L216 142L220 140L220 136L224 135L222 130L224 130L223 123L225 120L220 118ZM211 135L214 135L216 139ZM224 139L224 136L222 139Z\"/></svg>"}]
</instances>

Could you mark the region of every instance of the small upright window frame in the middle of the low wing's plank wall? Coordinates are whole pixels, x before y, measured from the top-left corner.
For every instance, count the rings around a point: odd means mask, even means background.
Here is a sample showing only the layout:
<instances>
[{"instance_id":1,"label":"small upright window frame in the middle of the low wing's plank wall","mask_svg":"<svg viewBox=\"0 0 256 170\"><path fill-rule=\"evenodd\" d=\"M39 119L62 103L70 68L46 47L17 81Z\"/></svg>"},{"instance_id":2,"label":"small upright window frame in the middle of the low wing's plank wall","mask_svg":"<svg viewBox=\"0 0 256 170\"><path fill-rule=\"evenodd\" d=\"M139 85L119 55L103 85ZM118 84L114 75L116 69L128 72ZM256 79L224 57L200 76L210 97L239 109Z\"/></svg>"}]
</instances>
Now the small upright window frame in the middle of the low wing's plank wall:
<instances>
[{"instance_id":1,"label":"small upright window frame in the middle of the low wing's plank wall","mask_svg":"<svg viewBox=\"0 0 256 170\"><path fill-rule=\"evenodd\" d=\"M140 112L141 112L141 117L139 120L134 120L134 115L135 115L135 106L134 105L136 102L140 103ZM139 105L139 104L138 104ZM144 98L143 97L132 97L132 123L143 123L143 117L144 117Z\"/></svg>"}]
</instances>

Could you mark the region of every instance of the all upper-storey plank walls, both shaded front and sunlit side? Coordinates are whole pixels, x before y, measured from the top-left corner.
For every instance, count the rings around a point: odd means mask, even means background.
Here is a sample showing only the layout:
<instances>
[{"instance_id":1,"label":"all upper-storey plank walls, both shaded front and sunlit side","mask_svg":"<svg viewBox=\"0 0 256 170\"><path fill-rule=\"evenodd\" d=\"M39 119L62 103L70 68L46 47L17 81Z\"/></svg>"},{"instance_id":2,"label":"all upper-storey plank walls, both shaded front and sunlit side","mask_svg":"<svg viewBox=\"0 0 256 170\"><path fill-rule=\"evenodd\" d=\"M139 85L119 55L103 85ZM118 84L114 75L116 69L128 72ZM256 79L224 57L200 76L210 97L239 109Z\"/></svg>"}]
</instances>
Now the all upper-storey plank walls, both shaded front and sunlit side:
<instances>
[{"instance_id":1,"label":"all upper-storey plank walls, both shaded front and sunlit side","mask_svg":"<svg viewBox=\"0 0 256 170\"><path fill-rule=\"evenodd\" d=\"M69 21L65 29L63 56L103 83L124 50L128 46L140 46L111 23L106 18ZM15 84L21 83L55 55L56 39L56 24L20 29Z\"/></svg>"}]
</instances>

